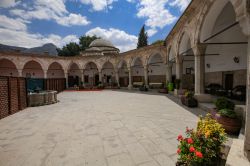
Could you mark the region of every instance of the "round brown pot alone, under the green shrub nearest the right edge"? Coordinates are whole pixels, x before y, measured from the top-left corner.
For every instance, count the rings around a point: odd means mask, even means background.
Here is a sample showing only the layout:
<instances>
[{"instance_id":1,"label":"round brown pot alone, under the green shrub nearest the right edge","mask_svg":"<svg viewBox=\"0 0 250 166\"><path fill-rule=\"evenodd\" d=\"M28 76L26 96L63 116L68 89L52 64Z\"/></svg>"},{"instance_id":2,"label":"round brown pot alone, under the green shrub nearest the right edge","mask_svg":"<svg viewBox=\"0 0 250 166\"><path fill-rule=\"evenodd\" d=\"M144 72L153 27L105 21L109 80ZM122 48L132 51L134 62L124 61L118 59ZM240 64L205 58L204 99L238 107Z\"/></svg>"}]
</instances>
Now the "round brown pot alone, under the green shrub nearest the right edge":
<instances>
[{"instance_id":1,"label":"round brown pot alone, under the green shrub nearest the right edge","mask_svg":"<svg viewBox=\"0 0 250 166\"><path fill-rule=\"evenodd\" d=\"M213 115L213 118L222 125L228 134L239 134L241 129L241 122L239 119L228 118L225 116L221 116L216 113Z\"/></svg>"}]
</instances>

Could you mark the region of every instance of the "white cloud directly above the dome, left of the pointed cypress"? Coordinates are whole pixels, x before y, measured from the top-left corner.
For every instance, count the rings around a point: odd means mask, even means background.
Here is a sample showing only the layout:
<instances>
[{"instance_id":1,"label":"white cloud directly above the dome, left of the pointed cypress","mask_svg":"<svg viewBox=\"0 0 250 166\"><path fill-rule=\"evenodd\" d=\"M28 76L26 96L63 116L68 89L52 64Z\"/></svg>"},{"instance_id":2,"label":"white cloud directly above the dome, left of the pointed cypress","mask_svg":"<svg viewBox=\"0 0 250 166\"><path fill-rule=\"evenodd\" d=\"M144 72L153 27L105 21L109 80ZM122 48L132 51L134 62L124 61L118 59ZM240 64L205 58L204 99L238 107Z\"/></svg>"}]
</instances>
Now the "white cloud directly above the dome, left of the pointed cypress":
<instances>
[{"instance_id":1,"label":"white cloud directly above the dome, left of the pointed cypress","mask_svg":"<svg viewBox=\"0 0 250 166\"><path fill-rule=\"evenodd\" d=\"M114 29L114 28L102 29L100 27L96 27L86 32L86 35L90 36L96 35L103 39L109 40L116 47L118 47L121 50L121 52L135 49L137 46L136 36L127 34L126 32L119 29Z\"/></svg>"}]
</instances>

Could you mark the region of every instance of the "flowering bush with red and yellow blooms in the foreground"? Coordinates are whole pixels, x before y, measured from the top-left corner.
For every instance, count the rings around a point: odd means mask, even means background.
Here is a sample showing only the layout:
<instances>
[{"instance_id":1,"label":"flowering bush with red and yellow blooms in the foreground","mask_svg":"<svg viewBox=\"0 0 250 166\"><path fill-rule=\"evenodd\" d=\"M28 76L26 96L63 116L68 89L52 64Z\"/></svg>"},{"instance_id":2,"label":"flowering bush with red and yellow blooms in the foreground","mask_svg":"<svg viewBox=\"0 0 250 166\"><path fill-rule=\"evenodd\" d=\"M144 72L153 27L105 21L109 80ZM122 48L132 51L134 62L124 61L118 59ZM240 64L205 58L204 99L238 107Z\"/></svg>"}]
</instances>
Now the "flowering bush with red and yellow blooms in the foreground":
<instances>
[{"instance_id":1,"label":"flowering bush with red and yellow blooms in the foreground","mask_svg":"<svg viewBox=\"0 0 250 166\"><path fill-rule=\"evenodd\" d=\"M179 135L178 161L183 166L225 165L227 156L222 154L222 147L227 140L224 129L216 120L207 115L200 118L196 130L186 129L186 137Z\"/></svg>"}]
</instances>

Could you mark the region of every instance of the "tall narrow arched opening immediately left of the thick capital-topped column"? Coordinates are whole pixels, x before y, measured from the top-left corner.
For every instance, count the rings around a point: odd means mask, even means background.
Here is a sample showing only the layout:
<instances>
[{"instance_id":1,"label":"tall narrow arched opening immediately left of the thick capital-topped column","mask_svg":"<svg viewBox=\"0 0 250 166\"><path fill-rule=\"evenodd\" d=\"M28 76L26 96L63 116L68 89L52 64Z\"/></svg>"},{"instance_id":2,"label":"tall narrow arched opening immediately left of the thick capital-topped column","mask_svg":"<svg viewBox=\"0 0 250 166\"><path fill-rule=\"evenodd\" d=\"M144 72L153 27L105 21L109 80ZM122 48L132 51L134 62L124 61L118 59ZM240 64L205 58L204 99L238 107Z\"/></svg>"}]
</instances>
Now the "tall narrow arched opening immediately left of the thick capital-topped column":
<instances>
[{"instance_id":1,"label":"tall narrow arched opening immediately left of the thick capital-topped column","mask_svg":"<svg viewBox=\"0 0 250 166\"><path fill-rule=\"evenodd\" d=\"M178 64L179 73L176 72L176 74L179 74L181 86L183 89L194 90L194 52L187 33L182 34L178 56L181 63Z\"/></svg>"}]
</instances>

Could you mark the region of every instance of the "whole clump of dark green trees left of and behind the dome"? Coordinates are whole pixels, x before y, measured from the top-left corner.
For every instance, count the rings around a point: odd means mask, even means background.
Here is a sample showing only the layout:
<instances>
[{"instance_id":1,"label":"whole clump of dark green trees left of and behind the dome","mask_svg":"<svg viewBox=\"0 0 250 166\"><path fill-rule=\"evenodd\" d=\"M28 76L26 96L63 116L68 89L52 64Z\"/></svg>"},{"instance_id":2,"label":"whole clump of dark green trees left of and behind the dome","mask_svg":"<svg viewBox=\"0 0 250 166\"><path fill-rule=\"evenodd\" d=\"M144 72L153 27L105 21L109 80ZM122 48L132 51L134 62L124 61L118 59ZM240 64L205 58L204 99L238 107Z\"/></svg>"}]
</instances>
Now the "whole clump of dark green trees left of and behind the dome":
<instances>
[{"instance_id":1,"label":"whole clump of dark green trees left of and behind the dome","mask_svg":"<svg viewBox=\"0 0 250 166\"><path fill-rule=\"evenodd\" d=\"M81 51L85 51L89 47L90 43L95 39L99 39L99 37L81 36L79 38L79 44L71 42L63 46L63 48L58 48L58 56L77 56Z\"/></svg>"}]
</instances>

